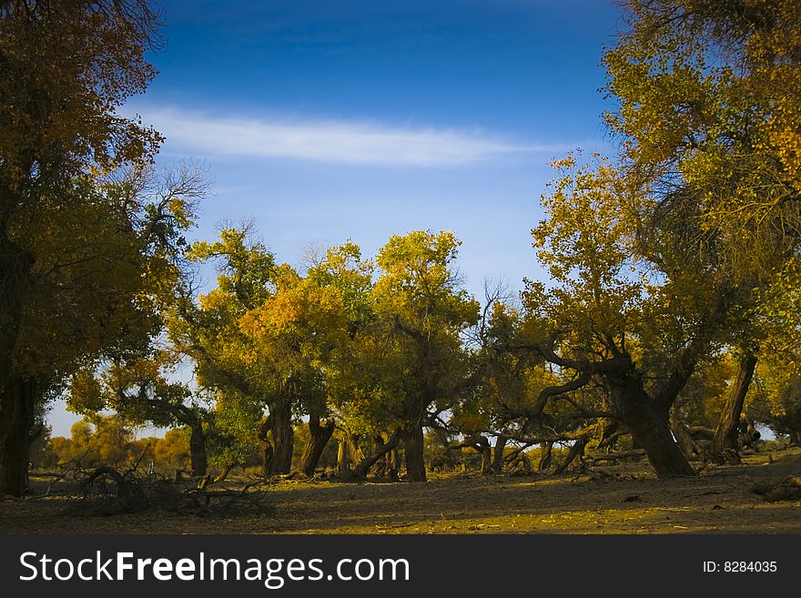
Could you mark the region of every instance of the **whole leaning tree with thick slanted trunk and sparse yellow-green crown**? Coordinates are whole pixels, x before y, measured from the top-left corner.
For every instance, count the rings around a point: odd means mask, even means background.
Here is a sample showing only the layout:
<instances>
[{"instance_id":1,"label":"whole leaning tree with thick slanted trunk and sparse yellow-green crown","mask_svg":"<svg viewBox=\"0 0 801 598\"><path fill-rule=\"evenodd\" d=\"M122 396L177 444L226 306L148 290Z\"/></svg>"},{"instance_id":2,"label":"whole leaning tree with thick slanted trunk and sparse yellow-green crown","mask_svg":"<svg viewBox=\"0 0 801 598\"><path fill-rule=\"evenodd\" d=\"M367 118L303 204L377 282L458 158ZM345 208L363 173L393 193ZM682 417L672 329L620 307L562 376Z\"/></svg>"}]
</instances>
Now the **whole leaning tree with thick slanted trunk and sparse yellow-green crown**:
<instances>
[{"instance_id":1,"label":"whole leaning tree with thick slanted trunk and sparse yellow-green crown","mask_svg":"<svg viewBox=\"0 0 801 598\"><path fill-rule=\"evenodd\" d=\"M692 218L654 220L643 189L603 160L570 157L556 167L546 218L533 230L552 281L528 282L524 322L501 339L558 372L560 383L540 391L532 415L600 388L596 417L622 423L658 475L692 475L669 413L699 363L728 340L750 295L720 267L715 245L698 243ZM658 233L648 242L645 223Z\"/></svg>"}]
</instances>

